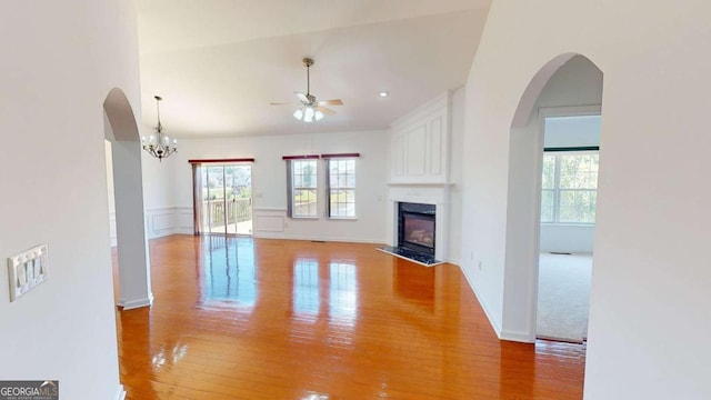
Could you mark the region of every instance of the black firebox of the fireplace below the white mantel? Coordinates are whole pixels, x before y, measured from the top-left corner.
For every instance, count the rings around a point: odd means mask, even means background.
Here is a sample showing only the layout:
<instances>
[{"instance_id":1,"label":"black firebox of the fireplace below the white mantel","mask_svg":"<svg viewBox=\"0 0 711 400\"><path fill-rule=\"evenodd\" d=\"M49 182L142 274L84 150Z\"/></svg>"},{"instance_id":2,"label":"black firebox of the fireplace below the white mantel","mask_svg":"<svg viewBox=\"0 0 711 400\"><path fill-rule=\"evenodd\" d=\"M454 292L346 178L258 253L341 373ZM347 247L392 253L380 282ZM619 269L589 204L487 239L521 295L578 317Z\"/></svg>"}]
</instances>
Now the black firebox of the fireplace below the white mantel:
<instances>
[{"instance_id":1,"label":"black firebox of the fireplace below the white mantel","mask_svg":"<svg viewBox=\"0 0 711 400\"><path fill-rule=\"evenodd\" d=\"M398 248L434 257L437 206L398 203Z\"/></svg>"}]
</instances>

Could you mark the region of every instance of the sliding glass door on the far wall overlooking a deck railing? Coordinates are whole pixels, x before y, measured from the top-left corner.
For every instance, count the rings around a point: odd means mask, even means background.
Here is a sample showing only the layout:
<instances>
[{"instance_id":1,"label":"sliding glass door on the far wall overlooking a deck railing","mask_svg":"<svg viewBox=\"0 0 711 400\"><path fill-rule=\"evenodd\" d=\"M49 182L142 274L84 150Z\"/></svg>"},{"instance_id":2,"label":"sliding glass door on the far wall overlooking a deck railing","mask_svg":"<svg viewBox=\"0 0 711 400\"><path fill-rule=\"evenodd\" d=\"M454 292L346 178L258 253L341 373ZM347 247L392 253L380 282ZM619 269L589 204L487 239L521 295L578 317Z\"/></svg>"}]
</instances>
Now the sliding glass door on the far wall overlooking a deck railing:
<instances>
[{"instance_id":1,"label":"sliding glass door on the far wall overlooking a deck railing","mask_svg":"<svg viewBox=\"0 0 711 400\"><path fill-rule=\"evenodd\" d=\"M251 164L203 164L194 174L197 232L252 234Z\"/></svg>"}]
</instances>

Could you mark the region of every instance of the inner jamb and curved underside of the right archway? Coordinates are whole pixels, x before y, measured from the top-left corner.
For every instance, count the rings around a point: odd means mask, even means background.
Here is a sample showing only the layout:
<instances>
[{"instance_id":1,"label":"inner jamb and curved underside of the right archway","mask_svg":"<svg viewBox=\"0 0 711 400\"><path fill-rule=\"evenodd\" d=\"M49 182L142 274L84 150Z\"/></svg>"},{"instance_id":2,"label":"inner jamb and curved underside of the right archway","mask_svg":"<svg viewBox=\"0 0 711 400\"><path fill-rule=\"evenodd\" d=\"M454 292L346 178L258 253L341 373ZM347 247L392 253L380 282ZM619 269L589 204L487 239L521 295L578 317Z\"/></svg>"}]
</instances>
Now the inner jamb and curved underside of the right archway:
<instances>
[{"instance_id":1,"label":"inner jamb and curved underside of the right archway","mask_svg":"<svg viewBox=\"0 0 711 400\"><path fill-rule=\"evenodd\" d=\"M541 243L543 110L601 108L602 72L583 56L545 63L527 87L511 123L503 326L513 340L537 339Z\"/></svg>"}]
</instances>

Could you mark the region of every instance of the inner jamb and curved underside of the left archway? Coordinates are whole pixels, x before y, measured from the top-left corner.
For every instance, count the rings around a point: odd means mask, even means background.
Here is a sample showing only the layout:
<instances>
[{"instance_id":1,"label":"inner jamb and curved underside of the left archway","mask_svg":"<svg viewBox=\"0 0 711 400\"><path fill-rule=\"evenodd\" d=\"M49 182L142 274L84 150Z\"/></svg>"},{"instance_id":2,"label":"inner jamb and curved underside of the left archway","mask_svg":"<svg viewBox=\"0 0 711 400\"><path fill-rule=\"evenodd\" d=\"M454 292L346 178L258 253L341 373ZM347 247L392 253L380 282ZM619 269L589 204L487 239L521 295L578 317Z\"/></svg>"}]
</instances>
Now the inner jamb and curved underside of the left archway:
<instances>
[{"instance_id":1,"label":"inner jamb and curved underside of the left archway","mask_svg":"<svg viewBox=\"0 0 711 400\"><path fill-rule=\"evenodd\" d=\"M103 102L104 138L109 142L107 179L112 180L109 210L116 221L118 257L117 306L124 310L150 306L153 300L143 209L141 143L133 110L121 89L113 88ZM111 221L113 222L113 221ZM113 223L112 223L113 233ZM113 240L112 240L113 241Z\"/></svg>"}]
</instances>

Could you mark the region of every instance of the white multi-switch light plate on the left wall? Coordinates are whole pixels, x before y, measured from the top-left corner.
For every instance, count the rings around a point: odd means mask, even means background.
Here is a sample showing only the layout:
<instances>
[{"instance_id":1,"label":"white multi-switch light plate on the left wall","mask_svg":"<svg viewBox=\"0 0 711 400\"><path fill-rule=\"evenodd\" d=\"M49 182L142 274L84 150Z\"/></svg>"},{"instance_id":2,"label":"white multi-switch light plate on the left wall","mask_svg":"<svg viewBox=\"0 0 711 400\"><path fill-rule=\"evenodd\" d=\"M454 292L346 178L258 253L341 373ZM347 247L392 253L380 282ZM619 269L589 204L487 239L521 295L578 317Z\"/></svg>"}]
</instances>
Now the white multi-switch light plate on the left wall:
<instances>
[{"instance_id":1,"label":"white multi-switch light plate on the left wall","mask_svg":"<svg viewBox=\"0 0 711 400\"><path fill-rule=\"evenodd\" d=\"M17 300L47 279L47 244L8 258L10 301Z\"/></svg>"}]
</instances>

